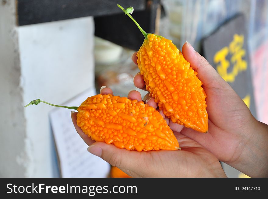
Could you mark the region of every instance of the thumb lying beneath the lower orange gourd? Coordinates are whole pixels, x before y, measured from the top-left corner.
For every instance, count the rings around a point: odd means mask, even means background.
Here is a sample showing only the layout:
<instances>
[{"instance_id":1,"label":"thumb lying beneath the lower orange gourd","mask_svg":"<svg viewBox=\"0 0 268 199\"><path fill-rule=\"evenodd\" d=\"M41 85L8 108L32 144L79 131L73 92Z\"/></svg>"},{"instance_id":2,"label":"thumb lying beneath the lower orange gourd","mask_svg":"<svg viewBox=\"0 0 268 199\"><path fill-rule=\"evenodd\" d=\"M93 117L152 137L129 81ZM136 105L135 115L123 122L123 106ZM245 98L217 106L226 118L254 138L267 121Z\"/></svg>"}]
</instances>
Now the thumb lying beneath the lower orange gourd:
<instances>
[{"instance_id":1,"label":"thumb lying beneath the lower orange gourd","mask_svg":"<svg viewBox=\"0 0 268 199\"><path fill-rule=\"evenodd\" d=\"M131 176L133 176L133 173L140 173L140 152L117 148L115 145L108 145L104 142L95 142L87 150Z\"/></svg>"}]
</instances>

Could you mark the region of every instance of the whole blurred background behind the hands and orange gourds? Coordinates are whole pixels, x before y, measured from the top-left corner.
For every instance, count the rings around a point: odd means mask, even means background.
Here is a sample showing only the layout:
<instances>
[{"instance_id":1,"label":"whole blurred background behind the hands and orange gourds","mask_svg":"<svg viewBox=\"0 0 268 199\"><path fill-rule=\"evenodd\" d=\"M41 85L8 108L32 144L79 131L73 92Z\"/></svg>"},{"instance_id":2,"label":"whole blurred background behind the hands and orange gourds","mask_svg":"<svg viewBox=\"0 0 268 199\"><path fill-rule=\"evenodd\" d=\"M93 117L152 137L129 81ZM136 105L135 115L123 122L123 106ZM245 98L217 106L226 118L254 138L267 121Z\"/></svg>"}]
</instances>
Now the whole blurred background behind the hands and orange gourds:
<instances>
[{"instance_id":1,"label":"whole blurred background behind the hands and orange gourds","mask_svg":"<svg viewBox=\"0 0 268 199\"><path fill-rule=\"evenodd\" d=\"M77 138L72 125L64 129L69 110L24 108L39 98L79 106L101 86L146 94L133 85L131 60L144 38L116 4L133 6L145 32L178 49L187 40L268 124L268 0L0 0L0 177L116 176L97 157L68 162L88 155L66 144ZM246 177L222 166L228 177Z\"/></svg>"}]
</instances>

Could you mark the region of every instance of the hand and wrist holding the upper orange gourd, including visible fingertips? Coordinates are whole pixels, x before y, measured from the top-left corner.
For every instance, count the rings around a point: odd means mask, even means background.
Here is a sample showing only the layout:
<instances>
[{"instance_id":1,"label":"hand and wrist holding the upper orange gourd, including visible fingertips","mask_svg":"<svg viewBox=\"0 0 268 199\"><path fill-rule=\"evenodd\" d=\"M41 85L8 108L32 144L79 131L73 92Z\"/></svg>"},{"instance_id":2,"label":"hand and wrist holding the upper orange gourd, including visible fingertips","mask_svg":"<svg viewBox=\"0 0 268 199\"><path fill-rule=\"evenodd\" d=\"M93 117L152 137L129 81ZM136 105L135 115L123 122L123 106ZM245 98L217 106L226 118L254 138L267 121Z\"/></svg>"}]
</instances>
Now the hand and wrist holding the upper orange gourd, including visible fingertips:
<instances>
[{"instance_id":1,"label":"hand and wrist holding the upper orange gourd, including visible fingertips","mask_svg":"<svg viewBox=\"0 0 268 199\"><path fill-rule=\"evenodd\" d=\"M268 177L268 125L257 121L243 100L216 70L186 42L182 54L198 73L206 92L208 133L196 132L165 118L171 130L198 142L218 160L251 177ZM137 62L136 53L132 55ZM134 77L134 85L146 90L143 76ZM157 108L147 94L144 101Z\"/></svg>"}]
</instances>

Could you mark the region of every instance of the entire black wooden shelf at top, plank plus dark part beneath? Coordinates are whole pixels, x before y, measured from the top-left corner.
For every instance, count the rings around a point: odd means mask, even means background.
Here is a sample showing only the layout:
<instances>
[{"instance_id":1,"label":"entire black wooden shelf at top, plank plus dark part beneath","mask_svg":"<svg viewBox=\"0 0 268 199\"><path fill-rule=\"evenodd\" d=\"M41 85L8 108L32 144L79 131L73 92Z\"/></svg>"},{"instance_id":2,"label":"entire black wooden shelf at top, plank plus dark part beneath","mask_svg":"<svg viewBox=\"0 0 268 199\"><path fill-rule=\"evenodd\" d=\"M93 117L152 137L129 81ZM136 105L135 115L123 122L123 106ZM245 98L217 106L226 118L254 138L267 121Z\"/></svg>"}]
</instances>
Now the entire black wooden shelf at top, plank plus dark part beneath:
<instances>
[{"instance_id":1,"label":"entire black wooden shelf at top, plank plus dark part beneath","mask_svg":"<svg viewBox=\"0 0 268 199\"><path fill-rule=\"evenodd\" d=\"M93 16L95 35L138 50L144 37L117 4L132 6L132 16L147 33L154 33L159 0L16 0L17 25Z\"/></svg>"}]
</instances>

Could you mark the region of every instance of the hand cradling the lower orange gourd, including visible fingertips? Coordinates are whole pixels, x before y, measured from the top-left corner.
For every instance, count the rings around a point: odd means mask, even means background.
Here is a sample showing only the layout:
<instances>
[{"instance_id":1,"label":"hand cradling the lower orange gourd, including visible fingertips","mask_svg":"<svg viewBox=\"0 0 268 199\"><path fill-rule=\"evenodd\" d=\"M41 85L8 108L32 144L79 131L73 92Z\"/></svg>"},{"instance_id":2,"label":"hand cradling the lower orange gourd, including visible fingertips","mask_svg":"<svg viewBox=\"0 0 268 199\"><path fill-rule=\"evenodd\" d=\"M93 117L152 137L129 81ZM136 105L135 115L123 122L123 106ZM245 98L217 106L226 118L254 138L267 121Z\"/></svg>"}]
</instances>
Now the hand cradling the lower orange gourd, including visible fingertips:
<instances>
[{"instance_id":1,"label":"hand cradling the lower orange gourd, including visible fingertips","mask_svg":"<svg viewBox=\"0 0 268 199\"><path fill-rule=\"evenodd\" d=\"M113 94L110 88L101 94ZM141 101L138 91L129 92L128 98ZM76 124L77 112L71 117L76 131L89 145L88 151L116 166L132 177L226 177L218 159L191 138L174 132L182 150L129 151L104 142L95 142Z\"/></svg>"}]
</instances>

